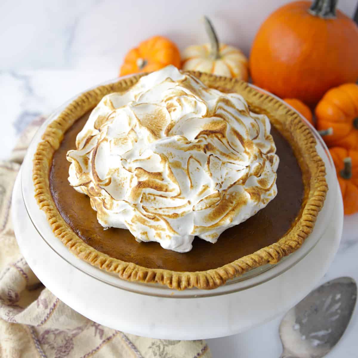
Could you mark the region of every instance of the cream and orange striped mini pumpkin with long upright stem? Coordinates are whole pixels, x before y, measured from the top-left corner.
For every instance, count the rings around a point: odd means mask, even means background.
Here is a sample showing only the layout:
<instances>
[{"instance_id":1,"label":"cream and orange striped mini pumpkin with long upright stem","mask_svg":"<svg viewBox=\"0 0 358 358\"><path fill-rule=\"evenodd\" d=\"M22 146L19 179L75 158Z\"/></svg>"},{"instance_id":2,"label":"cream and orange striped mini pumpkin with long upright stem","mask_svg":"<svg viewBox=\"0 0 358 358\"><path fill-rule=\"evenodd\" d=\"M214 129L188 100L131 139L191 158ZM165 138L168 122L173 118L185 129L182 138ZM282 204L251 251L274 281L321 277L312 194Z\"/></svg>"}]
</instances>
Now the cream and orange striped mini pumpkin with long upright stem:
<instances>
[{"instance_id":1,"label":"cream and orange striped mini pumpkin with long upright stem","mask_svg":"<svg viewBox=\"0 0 358 358\"><path fill-rule=\"evenodd\" d=\"M182 68L247 81L248 60L246 56L235 47L219 43L214 27L207 17L204 17L204 24L210 43L187 47L182 53Z\"/></svg>"}]
</instances>

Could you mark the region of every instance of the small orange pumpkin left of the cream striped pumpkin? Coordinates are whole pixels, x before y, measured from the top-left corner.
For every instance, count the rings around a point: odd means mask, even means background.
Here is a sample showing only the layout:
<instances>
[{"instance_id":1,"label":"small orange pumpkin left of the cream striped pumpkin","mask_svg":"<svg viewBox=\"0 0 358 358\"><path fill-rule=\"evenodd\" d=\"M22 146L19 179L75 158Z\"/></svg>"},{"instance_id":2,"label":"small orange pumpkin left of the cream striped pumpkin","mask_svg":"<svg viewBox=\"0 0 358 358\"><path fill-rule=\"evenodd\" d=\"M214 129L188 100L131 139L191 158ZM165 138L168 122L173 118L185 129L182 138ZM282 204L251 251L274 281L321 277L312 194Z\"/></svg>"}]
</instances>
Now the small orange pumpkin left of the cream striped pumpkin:
<instances>
[{"instance_id":1,"label":"small orange pumpkin left of the cream striped pumpkin","mask_svg":"<svg viewBox=\"0 0 358 358\"><path fill-rule=\"evenodd\" d=\"M178 47L163 36L153 36L131 49L120 69L119 76L139 72L152 72L168 65L180 68Z\"/></svg>"}]
</instances>

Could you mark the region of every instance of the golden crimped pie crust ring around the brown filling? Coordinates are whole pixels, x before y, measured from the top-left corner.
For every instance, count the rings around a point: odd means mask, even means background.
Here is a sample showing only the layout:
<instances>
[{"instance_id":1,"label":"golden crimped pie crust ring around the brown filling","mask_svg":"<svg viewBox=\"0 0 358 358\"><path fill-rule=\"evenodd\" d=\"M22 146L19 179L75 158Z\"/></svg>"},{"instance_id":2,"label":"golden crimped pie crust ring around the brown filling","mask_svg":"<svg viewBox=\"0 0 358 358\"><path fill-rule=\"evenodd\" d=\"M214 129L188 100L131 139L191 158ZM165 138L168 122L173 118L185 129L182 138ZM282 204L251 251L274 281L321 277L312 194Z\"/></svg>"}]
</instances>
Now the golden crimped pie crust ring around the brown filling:
<instances>
[{"instance_id":1,"label":"golden crimped pie crust ring around the brown filling","mask_svg":"<svg viewBox=\"0 0 358 358\"><path fill-rule=\"evenodd\" d=\"M33 182L37 203L47 216L56 237L76 256L107 272L117 274L121 279L158 283L171 289L183 290L197 287L214 289L227 280L240 276L255 267L277 263L282 257L297 250L313 230L319 211L323 207L328 185L325 180L325 165L316 152L316 140L301 117L284 103L248 86L246 82L215 76L197 71L183 71L199 78L209 87L224 92L242 95L253 112L266 113L271 123L289 141L302 171L309 171L310 178L304 180L305 198L300 217L296 218L289 232L270 246L228 263L217 269L197 272L177 272L164 269L149 269L112 258L95 250L81 240L64 221L50 193L49 171L54 152L58 149L64 133L86 112L95 107L103 96L111 92L128 90L143 74L120 79L116 83L91 89L73 100L45 130L33 158ZM214 244L215 245L215 244Z\"/></svg>"}]
</instances>

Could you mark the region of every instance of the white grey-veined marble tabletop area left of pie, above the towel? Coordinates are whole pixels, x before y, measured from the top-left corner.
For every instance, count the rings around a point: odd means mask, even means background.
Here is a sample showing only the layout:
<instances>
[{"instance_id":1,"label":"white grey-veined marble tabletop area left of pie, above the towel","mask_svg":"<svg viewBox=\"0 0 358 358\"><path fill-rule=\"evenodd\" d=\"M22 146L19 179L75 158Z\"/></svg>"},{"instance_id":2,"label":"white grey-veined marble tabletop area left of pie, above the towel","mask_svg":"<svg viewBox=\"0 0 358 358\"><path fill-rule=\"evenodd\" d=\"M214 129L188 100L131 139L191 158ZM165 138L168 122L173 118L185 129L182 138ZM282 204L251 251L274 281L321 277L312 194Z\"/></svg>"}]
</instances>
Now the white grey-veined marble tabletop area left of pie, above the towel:
<instances>
[{"instance_id":1,"label":"white grey-veined marble tabletop area left of pie, above the towel","mask_svg":"<svg viewBox=\"0 0 358 358\"><path fill-rule=\"evenodd\" d=\"M116 77L116 68L102 71L0 70L2 133L0 159L6 159L17 137L32 120L94 84Z\"/></svg>"}]
</instances>

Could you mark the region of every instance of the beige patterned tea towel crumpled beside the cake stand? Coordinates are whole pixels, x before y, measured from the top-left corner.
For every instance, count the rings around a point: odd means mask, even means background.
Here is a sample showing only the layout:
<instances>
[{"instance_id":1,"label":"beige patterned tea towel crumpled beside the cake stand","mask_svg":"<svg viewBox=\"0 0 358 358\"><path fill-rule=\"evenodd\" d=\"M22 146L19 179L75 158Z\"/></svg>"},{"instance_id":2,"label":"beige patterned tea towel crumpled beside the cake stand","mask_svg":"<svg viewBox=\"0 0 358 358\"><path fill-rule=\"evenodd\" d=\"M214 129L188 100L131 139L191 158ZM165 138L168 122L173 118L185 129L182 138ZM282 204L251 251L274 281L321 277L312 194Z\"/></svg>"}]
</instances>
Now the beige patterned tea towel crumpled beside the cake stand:
<instances>
[{"instance_id":1,"label":"beige patterned tea towel crumpled beside the cake stand","mask_svg":"<svg viewBox=\"0 0 358 358\"><path fill-rule=\"evenodd\" d=\"M61 302L31 271L16 243L11 192L29 141L44 120L33 122L10 160L0 162L0 357L210 358L203 340L150 339L95 323Z\"/></svg>"}]
</instances>

